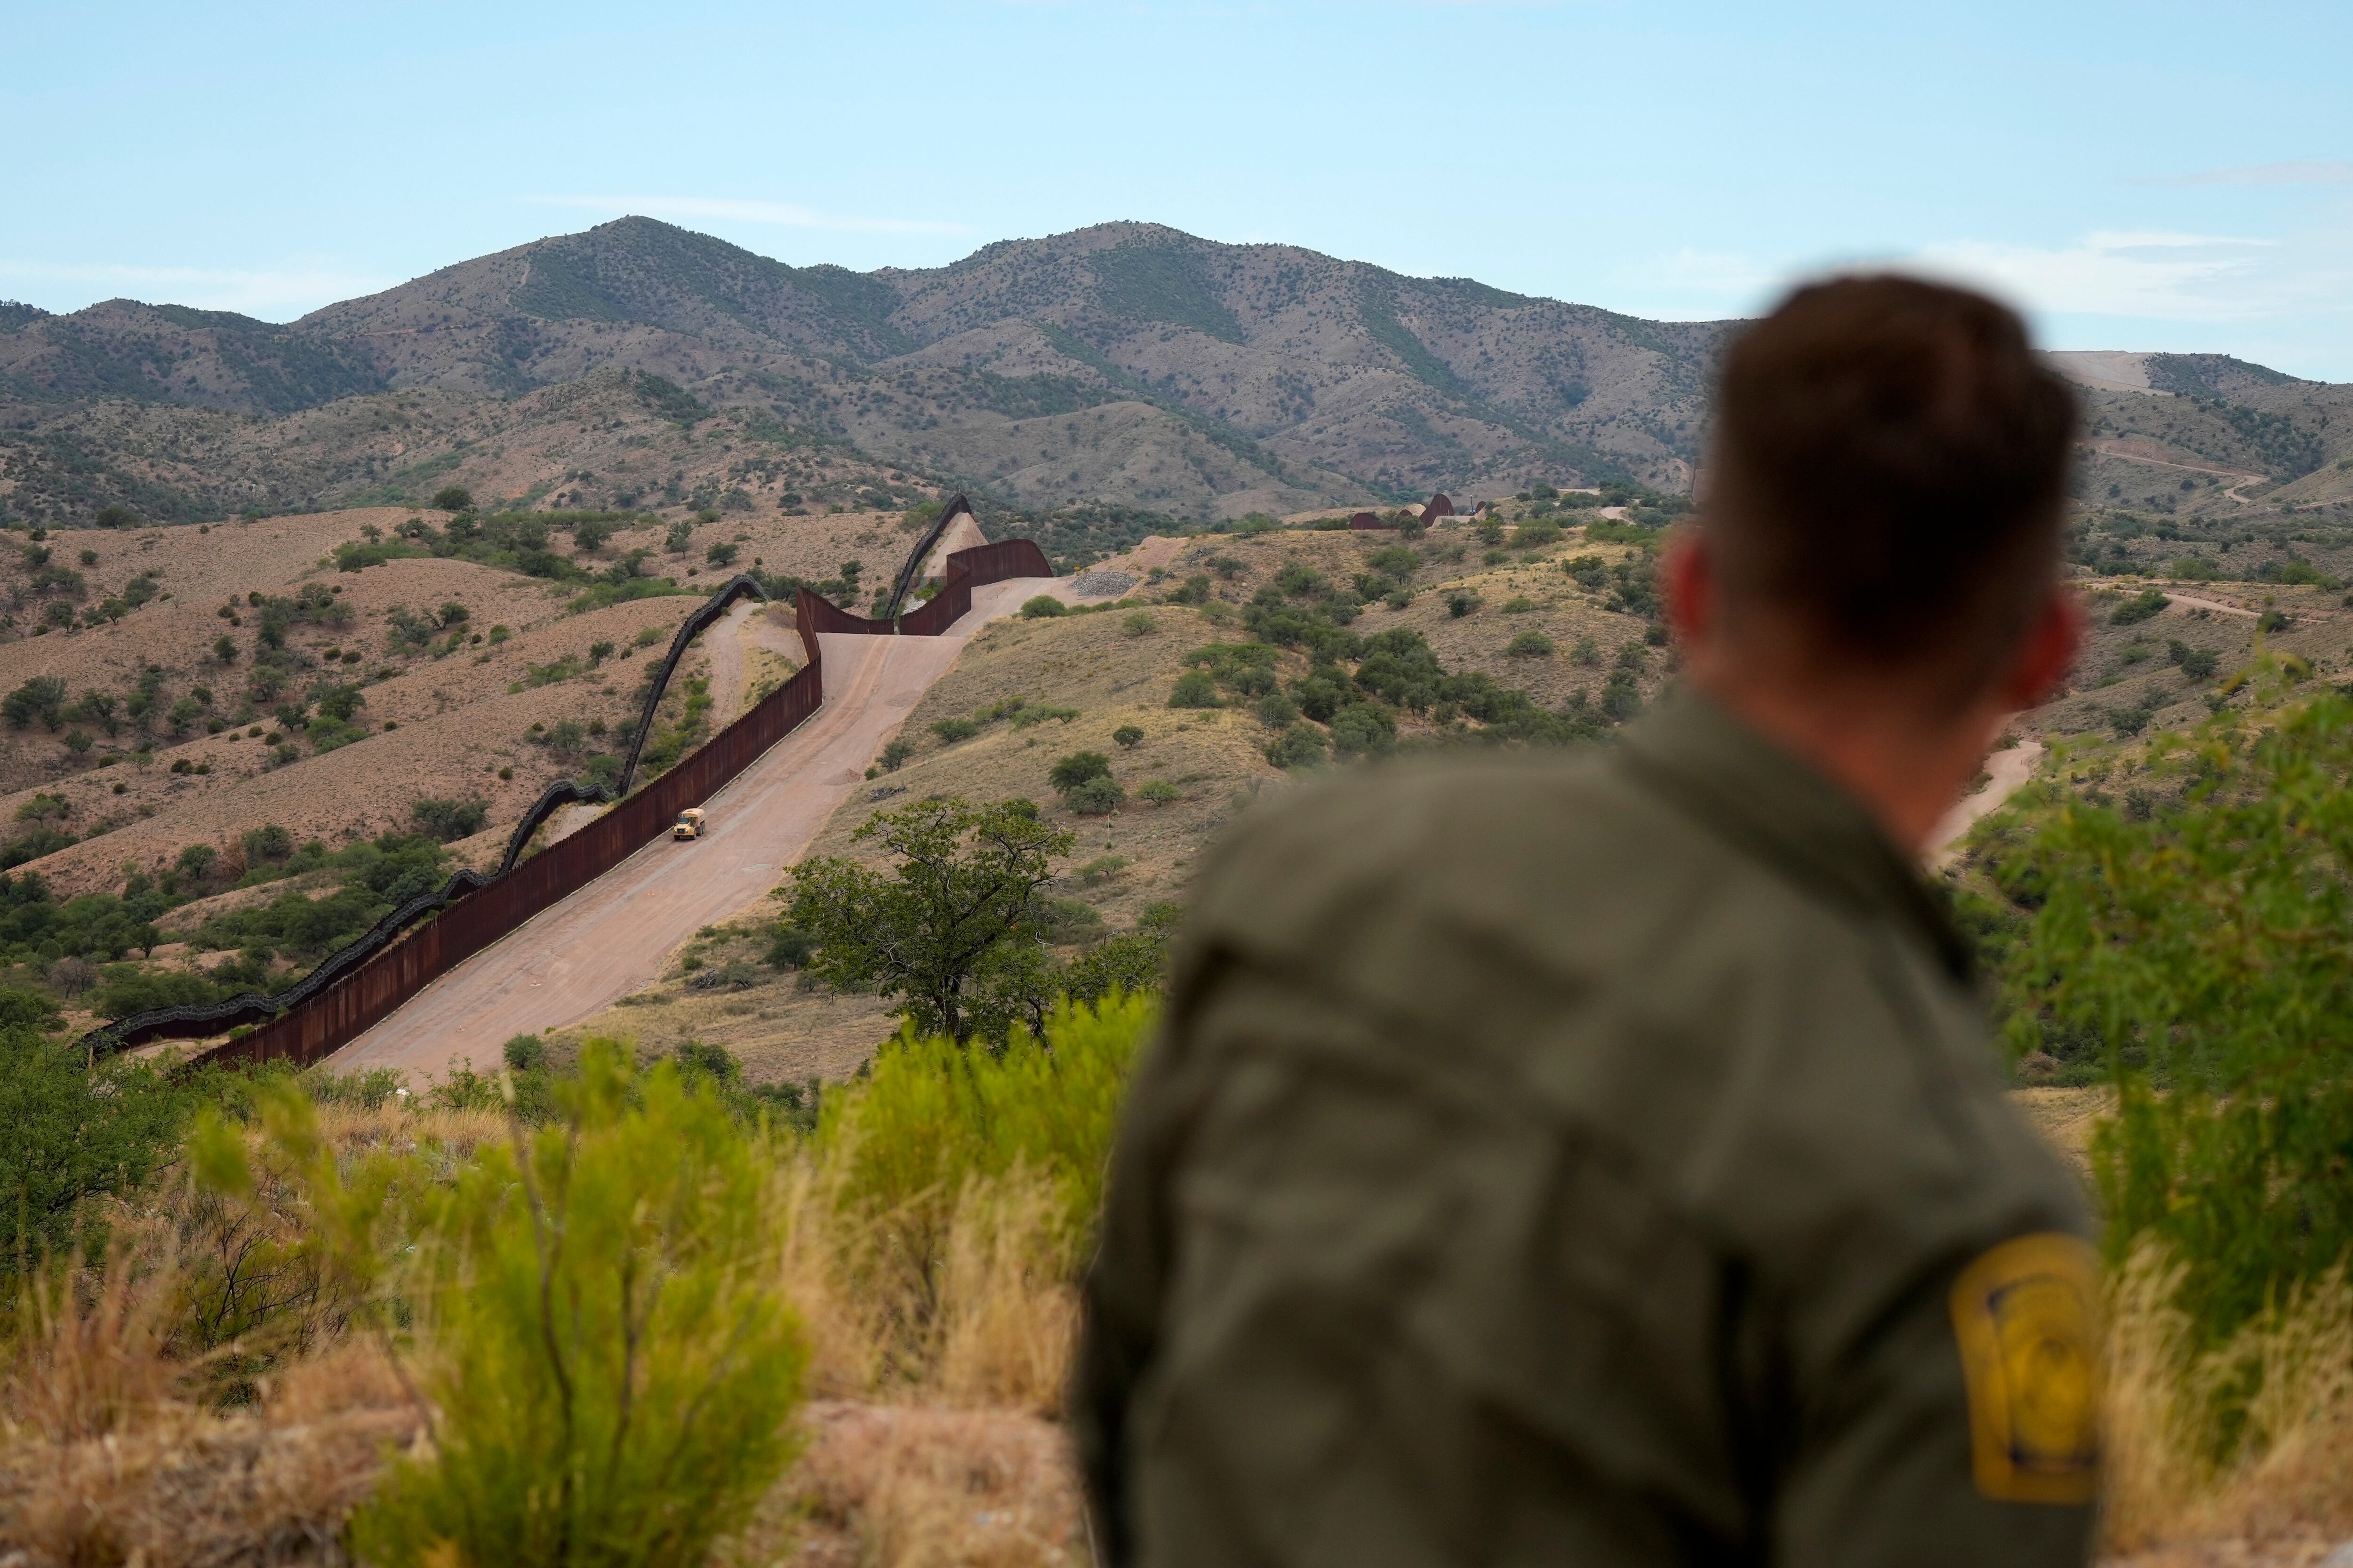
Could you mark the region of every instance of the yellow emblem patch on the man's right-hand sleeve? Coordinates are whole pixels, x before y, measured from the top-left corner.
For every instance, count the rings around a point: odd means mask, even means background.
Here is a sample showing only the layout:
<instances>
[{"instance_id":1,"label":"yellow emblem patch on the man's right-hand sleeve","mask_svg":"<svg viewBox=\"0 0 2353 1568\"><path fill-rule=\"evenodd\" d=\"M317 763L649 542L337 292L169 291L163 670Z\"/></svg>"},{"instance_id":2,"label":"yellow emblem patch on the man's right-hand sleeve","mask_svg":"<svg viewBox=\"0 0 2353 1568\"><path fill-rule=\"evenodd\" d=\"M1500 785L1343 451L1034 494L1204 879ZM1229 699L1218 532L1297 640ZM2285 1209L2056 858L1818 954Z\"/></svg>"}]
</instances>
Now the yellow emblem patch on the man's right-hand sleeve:
<instances>
[{"instance_id":1,"label":"yellow emblem patch on the man's right-hand sleeve","mask_svg":"<svg viewBox=\"0 0 2353 1568\"><path fill-rule=\"evenodd\" d=\"M2099 1486L2099 1265L2075 1237L2002 1241L1953 1281L1977 1490L2089 1502Z\"/></svg>"}]
</instances>

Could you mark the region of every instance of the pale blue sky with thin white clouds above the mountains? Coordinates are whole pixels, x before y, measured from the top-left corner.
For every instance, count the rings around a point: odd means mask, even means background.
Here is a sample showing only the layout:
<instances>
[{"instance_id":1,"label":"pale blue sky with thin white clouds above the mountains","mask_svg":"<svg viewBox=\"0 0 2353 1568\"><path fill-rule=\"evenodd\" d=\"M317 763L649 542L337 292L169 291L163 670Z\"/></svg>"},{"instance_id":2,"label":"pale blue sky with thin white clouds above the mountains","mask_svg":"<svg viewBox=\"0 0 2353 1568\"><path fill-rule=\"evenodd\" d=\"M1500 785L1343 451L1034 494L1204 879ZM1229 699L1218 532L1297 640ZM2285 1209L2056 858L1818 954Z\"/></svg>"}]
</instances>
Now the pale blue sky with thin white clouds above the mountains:
<instances>
[{"instance_id":1,"label":"pale blue sky with thin white clouds above the mountains","mask_svg":"<svg viewBox=\"0 0 2353 1568\"><path fill-rule=\"evenodd\" d=\"M939 266L1153 219L1635 315L1904 263L2353 381L2353 5L47 5L0 299L289 320L645 212Z\"/></svg>"}]
</instances>

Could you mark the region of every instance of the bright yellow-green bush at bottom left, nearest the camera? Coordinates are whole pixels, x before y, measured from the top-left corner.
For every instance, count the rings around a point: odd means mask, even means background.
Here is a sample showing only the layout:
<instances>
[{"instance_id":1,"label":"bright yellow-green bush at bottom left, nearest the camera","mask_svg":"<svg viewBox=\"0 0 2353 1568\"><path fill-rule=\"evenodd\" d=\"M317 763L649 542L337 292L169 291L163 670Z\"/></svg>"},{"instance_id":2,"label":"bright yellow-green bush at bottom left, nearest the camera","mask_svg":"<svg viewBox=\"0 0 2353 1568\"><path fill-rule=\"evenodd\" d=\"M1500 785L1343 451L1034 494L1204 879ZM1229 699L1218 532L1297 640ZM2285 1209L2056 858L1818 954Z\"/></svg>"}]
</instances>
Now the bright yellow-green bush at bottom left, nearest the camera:
<instances>
[{"instance_id":1,"label":"bright yellow-green bush at bottom left, nearest the camera","mask_svg":"<svg viewBox=\"0 0 2353 1568\"><path fill-rule=\"evenodd\" d=\"M699 1566L793 1458L807 1349L774 1291L751 1138L715 1086L673 1063L640 1077L612 1041L553 1093L548 1126L485 1145L414 1199L414 1227L393 1199L426 1182L424 1157L339 1168L308 1100L264 1098L336 1260L433 1331L435 1443L395 1453L353 1516L369 1563ZM216 1119L193 1164L254 1192Z\"/></svg>"}]
</instances>

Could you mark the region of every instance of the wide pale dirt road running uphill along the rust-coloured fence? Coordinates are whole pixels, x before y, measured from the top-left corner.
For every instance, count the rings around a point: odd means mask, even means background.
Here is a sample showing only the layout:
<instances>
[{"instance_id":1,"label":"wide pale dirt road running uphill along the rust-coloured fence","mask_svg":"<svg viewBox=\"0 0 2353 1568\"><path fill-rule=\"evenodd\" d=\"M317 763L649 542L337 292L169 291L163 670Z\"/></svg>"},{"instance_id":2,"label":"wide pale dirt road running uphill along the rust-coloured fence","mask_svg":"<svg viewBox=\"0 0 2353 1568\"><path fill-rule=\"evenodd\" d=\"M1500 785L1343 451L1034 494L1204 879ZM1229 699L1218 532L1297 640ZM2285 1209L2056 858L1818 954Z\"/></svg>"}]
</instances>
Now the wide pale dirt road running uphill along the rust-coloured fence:
<instances>
[{"instance_id":1,"label":"wide pale dirt road running uphill along the rust-coloured fence","mask_svg":"<svg viewBox=\"0 0 2353 1568\"><path fill-rule=\"evenodd\" d=\"M704 839L654 839L329 1060L339 1072L492 1067L511 1037L560 1030L645 987L699 929L765 898L965 642L1040 592L1075 599L1071 578L1016 578L976 588L946 637L821 637L826 705L711 799Z\"/></svg>"}]
</instances>

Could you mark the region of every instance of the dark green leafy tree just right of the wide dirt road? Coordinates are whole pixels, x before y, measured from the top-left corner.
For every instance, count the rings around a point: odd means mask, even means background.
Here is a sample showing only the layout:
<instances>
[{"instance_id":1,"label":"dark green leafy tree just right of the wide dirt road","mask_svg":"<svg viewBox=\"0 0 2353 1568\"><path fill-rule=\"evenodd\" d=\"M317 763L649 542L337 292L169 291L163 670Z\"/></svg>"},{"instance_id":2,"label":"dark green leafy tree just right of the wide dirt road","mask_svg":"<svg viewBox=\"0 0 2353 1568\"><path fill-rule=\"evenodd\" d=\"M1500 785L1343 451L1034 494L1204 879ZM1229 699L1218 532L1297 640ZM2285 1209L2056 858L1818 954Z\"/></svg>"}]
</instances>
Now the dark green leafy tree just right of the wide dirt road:
<instances>
[{"instance_id":1,"label":"dark green leafy tree just right of the wide dirt road","mask_svg":"<svg viewBox=\"0 0 2353 1568\"><path fill-rule=\"evenodd\" d=\"M995 992L1026 994L1012 983L1040 961L1038 889L1078 837L1047 827L1026 799L927 799L871 816L852 835L868 839L896 858L889 875L835 856L793 867L786 919L816 943L807 969L901 997L918 1030L969 1041L1002 1011Z\"/></svg>"}]
</instances>

